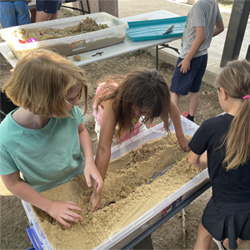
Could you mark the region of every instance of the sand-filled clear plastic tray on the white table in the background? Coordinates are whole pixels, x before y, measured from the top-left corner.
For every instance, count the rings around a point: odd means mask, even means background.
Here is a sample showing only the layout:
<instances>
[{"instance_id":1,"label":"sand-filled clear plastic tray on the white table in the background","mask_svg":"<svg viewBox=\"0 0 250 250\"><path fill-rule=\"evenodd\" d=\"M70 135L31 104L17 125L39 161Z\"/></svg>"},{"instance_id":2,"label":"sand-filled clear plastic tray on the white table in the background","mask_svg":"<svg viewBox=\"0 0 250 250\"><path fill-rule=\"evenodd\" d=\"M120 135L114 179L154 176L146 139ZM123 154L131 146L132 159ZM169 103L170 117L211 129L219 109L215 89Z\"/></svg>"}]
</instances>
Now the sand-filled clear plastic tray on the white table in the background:
<instances>
[{"instance_id":1,"label":"sand-filled clear plastic tray on the white table in the background","mask_svg":"<svg viewBox=\"0 0 250 250\"><path fill-rule=\"evenodd\" d=\"M82 25L89 19L100 29ZM37 48L53 49L69 56L121 43L126 37L126 28L126 22L100 12L5 28L0 30L0 36L18 59L24 52Z\"/></svg>"}]
</instances>

